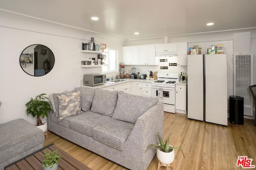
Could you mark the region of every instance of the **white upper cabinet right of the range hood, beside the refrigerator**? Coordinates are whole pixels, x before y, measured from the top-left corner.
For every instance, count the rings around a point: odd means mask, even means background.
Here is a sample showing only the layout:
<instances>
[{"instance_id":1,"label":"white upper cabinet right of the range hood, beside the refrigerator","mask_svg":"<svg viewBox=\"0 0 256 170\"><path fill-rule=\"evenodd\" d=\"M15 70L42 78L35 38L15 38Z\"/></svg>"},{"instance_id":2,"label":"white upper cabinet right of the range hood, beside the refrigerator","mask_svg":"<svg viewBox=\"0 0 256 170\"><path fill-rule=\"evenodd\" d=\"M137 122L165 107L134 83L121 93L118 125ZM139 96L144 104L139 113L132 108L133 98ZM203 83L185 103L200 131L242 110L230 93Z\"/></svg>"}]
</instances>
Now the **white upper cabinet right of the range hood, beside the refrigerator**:
<instances>
[{"instance_id":1,"label":"white upper cabinet right of the range hood, beside the refrigerator","mask_svg":"<svg viewBox=\"0 0 256 170\"><path fill-rule=\"evenodd\" d=\"M182 42L177 43L178 46L178 66L187 65L187 55L188 55L188 43Z\"/></svg>"}]
</instances>

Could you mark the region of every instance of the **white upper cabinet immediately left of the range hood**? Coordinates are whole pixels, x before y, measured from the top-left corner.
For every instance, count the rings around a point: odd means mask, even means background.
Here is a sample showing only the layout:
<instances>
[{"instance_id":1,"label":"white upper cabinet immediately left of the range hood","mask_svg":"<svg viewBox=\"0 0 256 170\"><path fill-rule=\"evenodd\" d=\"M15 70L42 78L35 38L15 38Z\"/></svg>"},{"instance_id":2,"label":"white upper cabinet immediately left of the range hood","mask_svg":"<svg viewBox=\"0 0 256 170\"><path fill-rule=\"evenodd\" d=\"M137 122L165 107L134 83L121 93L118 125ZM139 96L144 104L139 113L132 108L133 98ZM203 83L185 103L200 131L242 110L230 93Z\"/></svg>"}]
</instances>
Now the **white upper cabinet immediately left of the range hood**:
<instances>
[{"instance_id":1,"label":"white upper cabinet immediately left of the range hood","mask_svg":"<svg viewBox=\"0 0 256 170\"><path fill-rule=\"evenodd\" d=\"M139 65L158 65L156 46L139 45Z\"/></svg>"}]
</instances>

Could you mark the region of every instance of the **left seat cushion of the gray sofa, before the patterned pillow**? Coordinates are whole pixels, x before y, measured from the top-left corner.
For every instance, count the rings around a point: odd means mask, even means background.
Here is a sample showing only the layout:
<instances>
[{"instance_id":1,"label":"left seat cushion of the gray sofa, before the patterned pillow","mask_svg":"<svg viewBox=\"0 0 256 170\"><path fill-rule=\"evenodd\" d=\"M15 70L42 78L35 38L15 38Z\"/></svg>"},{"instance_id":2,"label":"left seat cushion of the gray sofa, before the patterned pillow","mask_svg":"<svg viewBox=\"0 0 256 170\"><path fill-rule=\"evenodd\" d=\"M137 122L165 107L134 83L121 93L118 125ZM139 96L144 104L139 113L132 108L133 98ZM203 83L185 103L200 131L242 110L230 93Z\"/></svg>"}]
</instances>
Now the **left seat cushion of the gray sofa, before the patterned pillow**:
<instances>
[{"instance_id":1,"label":"left seat cushion of the gray sofa, before the patterned pillow","mask_svg":"<svg viewBox=\"0 0 256 170\"><path fill-rule=\"evenodd\" d=\"M92 111L84 111L82 114L70 119L69 127L73 131L92 137L92 129L95 126L108 121L108 119L111 119L111 117Z\"/></svg>"}]
</instances>

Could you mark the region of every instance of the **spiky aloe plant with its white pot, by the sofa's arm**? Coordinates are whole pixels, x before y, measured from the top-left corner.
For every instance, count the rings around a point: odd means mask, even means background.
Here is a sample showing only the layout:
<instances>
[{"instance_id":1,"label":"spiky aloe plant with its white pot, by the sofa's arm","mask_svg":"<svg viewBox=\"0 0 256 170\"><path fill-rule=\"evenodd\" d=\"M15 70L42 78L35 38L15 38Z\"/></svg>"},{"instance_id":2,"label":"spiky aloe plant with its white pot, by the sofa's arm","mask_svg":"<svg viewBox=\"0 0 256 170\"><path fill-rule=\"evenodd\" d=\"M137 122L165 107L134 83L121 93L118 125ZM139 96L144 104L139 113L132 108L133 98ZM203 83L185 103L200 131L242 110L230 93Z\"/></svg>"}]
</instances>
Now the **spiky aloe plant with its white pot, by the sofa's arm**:
<instances>
[{"instance_id":1,"label":"spiky aloe plant with its white pot, by the sofa's arm","mask_svg":"<svg viewBox=\"0 0 256 170\"><path fill-rule=\"evenodd\" d=\"M172 147L169 144L169 139L170 139L172 133L168 136L165 143L164 143L159 132L157 133L157 135L158 135L160 144L159 145L154 145L154 144L148 145L146 151L148 149L150 149L151 147L156 147L157 148L156 156L163 166L169 166L174 161L174 149L181 150L183 157L185 158L182 149L177 148L177 147Z\"/></svg>"}]
</instances>

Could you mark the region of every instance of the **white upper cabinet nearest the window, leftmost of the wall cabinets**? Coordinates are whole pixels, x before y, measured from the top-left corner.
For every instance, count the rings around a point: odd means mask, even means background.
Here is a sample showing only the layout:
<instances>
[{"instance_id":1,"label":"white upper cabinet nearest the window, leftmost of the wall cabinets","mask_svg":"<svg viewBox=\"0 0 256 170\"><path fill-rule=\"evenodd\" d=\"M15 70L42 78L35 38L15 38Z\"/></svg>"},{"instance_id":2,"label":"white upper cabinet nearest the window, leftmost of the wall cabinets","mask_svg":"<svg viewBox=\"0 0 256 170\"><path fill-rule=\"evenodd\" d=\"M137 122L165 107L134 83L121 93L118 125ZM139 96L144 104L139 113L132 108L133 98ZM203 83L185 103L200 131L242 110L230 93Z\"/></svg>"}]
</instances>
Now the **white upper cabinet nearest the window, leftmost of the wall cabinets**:
<instances>
[{"instance_id":1,"label":"white upper cabinet nearest the window, leftmost of the wall cabinets","mask_svg":"<svg viewBox=\"0 0 256 170\"><path fill-rule=\"evenodd\" d=\"M123 61L126 65L138 65L138 46L123 47Z\"/></svg>"}]
</instances>

